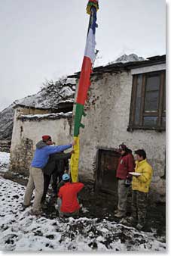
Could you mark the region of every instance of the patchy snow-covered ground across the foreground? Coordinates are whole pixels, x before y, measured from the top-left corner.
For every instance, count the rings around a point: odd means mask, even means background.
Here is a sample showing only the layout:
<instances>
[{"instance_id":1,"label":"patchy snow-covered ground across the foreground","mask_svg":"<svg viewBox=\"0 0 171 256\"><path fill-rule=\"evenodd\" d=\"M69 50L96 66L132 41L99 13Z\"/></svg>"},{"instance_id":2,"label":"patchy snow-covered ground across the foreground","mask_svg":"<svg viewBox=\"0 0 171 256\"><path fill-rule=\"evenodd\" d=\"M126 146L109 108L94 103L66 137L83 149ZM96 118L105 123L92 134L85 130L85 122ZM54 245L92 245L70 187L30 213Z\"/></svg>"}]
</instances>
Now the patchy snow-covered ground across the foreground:
<instances>
[{"instance_id":1,"label":"patchy snow-covered ground across the foreground","mask_svg":"<svg viewBox=\"0 0 171 256\"><path fill-rule=\"evenodd\" d=\"M59 220L23 211L25 186L0 177L2 251L166 251L165 237L138 232L106 218Z\"/></svg>"}]
</instances>

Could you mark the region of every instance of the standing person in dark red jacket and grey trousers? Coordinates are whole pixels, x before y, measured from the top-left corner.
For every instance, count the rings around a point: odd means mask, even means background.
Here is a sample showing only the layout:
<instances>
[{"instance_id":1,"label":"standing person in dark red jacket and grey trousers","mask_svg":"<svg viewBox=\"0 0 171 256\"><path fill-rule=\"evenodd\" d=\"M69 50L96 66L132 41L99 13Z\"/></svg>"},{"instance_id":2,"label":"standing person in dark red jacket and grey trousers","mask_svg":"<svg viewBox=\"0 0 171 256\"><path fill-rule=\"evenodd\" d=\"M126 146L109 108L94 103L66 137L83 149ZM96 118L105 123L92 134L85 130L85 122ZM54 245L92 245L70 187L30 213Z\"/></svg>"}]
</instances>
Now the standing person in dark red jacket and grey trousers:
<instances>
[{"instance_id":1,"label":"standing person in dark red jacket and grey trousers","mask_svg":"<svg viewBox=\"0 0 171 256\"><path fill-rule=\"evenodd\" d=\"M131 183L129 172L134 171L135 163L130 148L126 145L120 145L121 158L119 158L116 177L118 178L118 209L115 211L115 217L124 217L127 213L127 195Z\"/></svg>"}]
</instances>

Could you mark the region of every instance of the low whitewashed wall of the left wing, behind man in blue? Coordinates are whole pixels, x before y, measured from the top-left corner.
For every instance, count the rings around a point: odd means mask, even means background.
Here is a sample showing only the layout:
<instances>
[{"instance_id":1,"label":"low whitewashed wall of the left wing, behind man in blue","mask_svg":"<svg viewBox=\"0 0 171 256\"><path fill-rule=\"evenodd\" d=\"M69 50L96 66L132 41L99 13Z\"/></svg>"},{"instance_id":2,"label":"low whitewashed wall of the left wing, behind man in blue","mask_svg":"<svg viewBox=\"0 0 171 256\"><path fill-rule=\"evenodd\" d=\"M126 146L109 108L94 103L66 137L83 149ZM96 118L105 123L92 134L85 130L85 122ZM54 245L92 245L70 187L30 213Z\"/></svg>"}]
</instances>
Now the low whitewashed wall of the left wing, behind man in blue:
<instances>
[{"instance_id":1,"label":"low whitewashed wall of the left wing, behind man in blue","mask_svg":"<svg viewBox=\"0 0 171 256\"><path fill-rule=\"evenodd\" d=\"M16 109L14 114L14 128L11 140L11 167L14 172L29 175L29 166L35 151L35 144L41 140L41 136L52 136L56 145L72 142L71 118L50 120L44 117L40 120L21 120L20 114L26 114L24 109ZM28 113L27 113L28 114ZM36 111L34 114L37 114ZM41 114L38 111L38 114ZM44 113L43 113L44 114Z\"/></svg>"}]
</instances>

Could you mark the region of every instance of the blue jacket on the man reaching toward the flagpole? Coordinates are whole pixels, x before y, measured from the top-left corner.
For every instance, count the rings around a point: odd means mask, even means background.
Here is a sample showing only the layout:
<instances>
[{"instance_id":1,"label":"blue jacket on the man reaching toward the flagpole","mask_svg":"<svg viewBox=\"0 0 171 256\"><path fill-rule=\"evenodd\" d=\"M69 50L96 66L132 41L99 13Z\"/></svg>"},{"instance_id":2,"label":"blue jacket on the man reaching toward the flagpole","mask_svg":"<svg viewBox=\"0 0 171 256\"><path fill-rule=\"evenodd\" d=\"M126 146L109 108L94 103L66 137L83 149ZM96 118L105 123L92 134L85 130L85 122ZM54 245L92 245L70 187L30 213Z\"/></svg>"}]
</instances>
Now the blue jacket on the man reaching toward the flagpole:
<instances>
[{"instance_id":1,"label":"blue jacket on the man reaching toward the flagpole","mask_svg":"<svg viewBox=\"0 0 171 256\"><path fill-rule=\"evenodd\" d=\"M32 159L31 167L44 168L47 164L50 154L61 152L68 148L72 148L72 144L68 145L46 145L42 140L36 144L35 155Z\"/></svg>"}]
</instances>

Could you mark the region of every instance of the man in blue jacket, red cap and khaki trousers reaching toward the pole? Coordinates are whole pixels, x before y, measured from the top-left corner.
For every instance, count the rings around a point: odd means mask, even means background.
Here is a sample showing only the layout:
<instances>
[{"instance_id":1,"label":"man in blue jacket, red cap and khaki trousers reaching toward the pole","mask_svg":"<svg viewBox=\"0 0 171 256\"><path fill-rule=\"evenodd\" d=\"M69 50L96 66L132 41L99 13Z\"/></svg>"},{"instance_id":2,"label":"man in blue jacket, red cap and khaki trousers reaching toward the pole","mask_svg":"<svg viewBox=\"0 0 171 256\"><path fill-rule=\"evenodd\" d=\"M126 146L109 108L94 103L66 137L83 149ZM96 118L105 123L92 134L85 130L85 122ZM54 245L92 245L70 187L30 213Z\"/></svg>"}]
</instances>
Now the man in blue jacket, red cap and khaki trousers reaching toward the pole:
<instances>
[{"instance_id":1,"label":"man in blue jacket, red cap and khaki trousers reaching toward the pole","mask_svg":"<svg viewBox=\"0 0 171 256\"><path fill-rule=\"evenodd\" d=\"M68 148L72 148L75 142L68 145L53 145L52 139L48 135L42 136L42 140L36 144L35 155L32 159L31 167L29 169L29 182L26 186L26 192L24 195L24 207L30 205L32 198L32 192L35 189L35 199L32 206L31 214L41 214L41 197L44 192L44 175L42 169L47 164L50 154L64 151Z\"/></svg>"}]
</instances>

